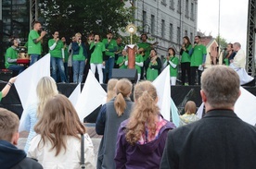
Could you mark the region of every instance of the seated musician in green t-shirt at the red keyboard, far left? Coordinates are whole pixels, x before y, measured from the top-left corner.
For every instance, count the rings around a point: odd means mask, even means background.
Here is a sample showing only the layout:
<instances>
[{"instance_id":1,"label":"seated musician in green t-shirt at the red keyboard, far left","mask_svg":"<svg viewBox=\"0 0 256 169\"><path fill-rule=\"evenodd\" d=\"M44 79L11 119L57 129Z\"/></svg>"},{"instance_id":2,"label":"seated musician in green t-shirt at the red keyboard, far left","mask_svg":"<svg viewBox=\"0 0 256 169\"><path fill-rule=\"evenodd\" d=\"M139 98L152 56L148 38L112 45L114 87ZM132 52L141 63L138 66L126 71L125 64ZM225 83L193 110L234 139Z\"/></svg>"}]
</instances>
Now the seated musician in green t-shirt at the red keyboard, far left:
<instances>
[{"instance_id":1,"label":"seated musician in green t-shirt at the red keyboard, far left","mask_svg":"<svg viewBox=\"0 0 256 169\"><path fill-rule=\"evenodd\" d=\"M17 47L19 46L19 42L18 40L13 39L11 40L11 44L12 46L6 50L5 66L9 70L18 71L19 73L21 73L25 69L25 66L17 65L17 59L18 59Z\"/></svg>"}]
</instances>

